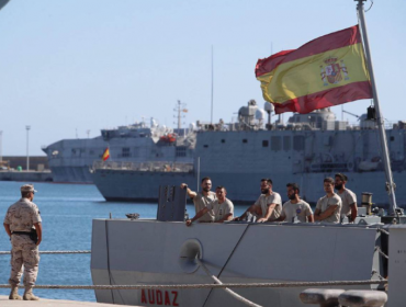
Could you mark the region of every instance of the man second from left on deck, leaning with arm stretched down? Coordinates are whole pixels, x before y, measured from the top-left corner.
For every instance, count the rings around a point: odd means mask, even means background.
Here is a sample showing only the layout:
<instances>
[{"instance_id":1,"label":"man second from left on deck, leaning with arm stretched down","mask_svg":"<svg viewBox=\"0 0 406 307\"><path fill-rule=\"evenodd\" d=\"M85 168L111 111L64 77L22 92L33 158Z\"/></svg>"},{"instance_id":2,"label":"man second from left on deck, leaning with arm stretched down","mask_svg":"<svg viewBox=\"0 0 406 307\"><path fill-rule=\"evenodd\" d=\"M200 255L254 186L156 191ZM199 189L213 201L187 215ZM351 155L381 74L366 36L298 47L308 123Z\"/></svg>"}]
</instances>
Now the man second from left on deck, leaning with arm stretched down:
<instances>
[{"instance_id":1,"label":"man second from left on deck, leaning with arm stretched down","mask_svg":"<svg viewBox=\"0 0 406 307\"><path fill-rule=\"evenodd\" d=\"M206 207L196 213L192 219L187 220L187 226L191 226L192 223L200 217L208 214L210 211L214 214L214 223L223 223L224 220L232 220L234 215L234 205L232 201L226 198L227 191L224 186L216 187L216 200L208 203Z\"/></svg>"}]
</instances>

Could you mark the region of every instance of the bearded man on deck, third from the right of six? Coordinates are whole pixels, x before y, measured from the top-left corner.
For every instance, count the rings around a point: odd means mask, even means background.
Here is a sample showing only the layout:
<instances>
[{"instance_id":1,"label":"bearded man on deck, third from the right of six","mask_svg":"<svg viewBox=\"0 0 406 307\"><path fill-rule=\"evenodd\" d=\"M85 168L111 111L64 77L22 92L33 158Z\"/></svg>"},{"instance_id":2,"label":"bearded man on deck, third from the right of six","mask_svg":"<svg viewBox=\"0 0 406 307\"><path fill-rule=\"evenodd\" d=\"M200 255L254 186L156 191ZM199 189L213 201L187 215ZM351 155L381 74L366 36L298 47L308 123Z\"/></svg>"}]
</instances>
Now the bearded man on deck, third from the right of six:
<instances>
[{"instance_id":1,"label":"bearded man on deck, third from the right of six","mask_svg":"<svg viewBox=\"0 0 406 307\"><path fill-rule=\"evenodd\" d=\"M311 205L301 200L301 190L296 183L286 184L289 201L283 204L281 216L277 220L293 223L298 219L301 223L314 223Z\"/></svg>"}]
</instances>

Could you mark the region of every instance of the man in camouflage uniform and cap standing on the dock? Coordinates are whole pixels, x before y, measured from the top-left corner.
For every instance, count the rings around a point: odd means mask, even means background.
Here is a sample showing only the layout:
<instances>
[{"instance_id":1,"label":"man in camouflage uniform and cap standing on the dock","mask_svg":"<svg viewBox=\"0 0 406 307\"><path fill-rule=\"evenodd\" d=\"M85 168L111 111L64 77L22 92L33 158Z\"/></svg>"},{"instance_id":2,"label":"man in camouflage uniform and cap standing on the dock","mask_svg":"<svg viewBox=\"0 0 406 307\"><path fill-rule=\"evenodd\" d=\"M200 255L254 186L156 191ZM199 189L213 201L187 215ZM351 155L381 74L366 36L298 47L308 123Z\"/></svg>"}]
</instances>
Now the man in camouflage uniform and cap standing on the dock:
<instances>
[{"instance_id":1,"label":"man in camouflage uniform and cap standing on the dock","mask_svg":"<svg viewBox=\"0 0 406 307\"><path fill-rule=\"evenodd\" d=\"M11 240L11 285L10 299L22 299L18 286L24 265L24 300L38 300L32 289L38 273L38 246L42 241L42 224L38 207L33 203L34 186L21 186L21 200L11 205L4 217L4 229ZM35 229L37 241L34 242L30 232Z\"/></svg>"}]
</instances>

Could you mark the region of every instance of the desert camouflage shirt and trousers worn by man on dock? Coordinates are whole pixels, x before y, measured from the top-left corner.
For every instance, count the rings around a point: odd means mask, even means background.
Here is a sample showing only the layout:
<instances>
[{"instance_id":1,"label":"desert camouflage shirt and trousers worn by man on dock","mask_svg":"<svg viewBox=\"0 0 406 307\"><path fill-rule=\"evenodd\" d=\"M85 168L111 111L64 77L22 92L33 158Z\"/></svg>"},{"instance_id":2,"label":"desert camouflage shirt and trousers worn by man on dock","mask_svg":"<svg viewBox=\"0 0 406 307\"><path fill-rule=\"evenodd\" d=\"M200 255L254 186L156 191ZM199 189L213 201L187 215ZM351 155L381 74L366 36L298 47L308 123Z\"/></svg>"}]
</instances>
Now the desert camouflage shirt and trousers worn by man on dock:
<instances>
[{"instance_id":1,"label":"desert camouflage shirt and trousers worn by man on dock","mask_svg":"<svg viewBox=\"0 0 406 307\"><path fill-rule=\"evenodd\" d=\"M21 198L7 211L4 224L10 225L11 231L30 232L33 225L41 223L38 207L27 198ZM9 283L19 285L24 264L24 285L33 286L38 273L38 247L27 235L11 236L11 274Z\"/></svg>"}]
</instances>

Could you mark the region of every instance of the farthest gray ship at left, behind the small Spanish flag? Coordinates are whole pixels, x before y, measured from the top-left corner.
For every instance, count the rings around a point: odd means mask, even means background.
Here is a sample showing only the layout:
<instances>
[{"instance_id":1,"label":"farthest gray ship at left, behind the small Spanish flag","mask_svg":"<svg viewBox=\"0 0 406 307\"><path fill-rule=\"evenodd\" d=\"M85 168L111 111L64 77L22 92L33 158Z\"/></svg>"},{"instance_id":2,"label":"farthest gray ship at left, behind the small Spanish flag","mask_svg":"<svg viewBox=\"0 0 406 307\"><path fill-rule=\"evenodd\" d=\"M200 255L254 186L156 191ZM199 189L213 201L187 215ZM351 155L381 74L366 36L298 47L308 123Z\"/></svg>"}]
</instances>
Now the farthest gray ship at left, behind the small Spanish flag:
<instances>
[{"instance_id":1,"label":"farthest gray ship at left, behind the small Spanish flag","mask_svg":"<svg viewBox=\"0 0 406 307\"><path fill-rule=\"evenodd\" d=\"M193 134L178 136L172 128L137 123L117 128L102 129L101 135L87 139L63 139L43 150L48 157L55 182L92 183L89 169L101 160L110 148L109 161L193 161Z\"/></svg>"}]
</instances>

